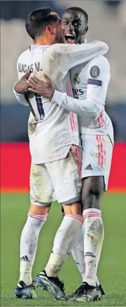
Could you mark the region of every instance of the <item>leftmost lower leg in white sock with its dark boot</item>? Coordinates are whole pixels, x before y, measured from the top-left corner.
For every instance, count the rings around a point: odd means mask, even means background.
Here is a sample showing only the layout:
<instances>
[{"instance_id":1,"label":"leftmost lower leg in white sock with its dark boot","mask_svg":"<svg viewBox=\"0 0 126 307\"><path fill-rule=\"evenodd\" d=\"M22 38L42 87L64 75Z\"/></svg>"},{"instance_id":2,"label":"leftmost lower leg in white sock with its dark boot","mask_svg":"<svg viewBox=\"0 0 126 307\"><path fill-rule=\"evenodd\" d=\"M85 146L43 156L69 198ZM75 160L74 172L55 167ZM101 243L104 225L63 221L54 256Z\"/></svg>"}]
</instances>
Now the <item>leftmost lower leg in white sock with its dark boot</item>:
<instances>
[{"instance_id":1,"label":"leftmost lower leg in white sock with its dark boot","mask_svg":"<svg viewBox=\"0 0 126 307\"><path fill-rule=\"evenodd\" d=\"M32 205L30 207L30 211L27 215L27 221L21 235L20 278L15 289L15 296L18 298L32 299L36 297L34 286L32 284L32 266L36 255L38 236L48 216L48 213L45 215L34 214L34 210L37 210L36 207L36 205ZM49 208L46 208L46 211L49 210ZM38 208L37 213L42 213L42 210L44 212L44 208Z\"/></svg>"}]
</instances>

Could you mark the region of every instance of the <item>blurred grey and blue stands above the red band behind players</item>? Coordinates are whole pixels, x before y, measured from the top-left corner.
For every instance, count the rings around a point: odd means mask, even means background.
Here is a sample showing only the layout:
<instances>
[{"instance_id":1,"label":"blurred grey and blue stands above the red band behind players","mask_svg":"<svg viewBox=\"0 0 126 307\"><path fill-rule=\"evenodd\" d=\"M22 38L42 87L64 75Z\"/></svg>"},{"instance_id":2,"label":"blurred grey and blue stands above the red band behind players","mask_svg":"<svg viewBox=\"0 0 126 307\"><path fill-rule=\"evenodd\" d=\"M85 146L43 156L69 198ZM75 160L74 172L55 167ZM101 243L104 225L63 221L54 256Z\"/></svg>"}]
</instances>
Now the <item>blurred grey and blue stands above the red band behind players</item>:
<instances>
[{"instance_id":1,"label":"blurred grey and blue stands above the red band behind players","mask_svg":"<svg viewBox=\"0 0 126 307\"><path fill-rule=\"evenodd\" d=\"M18 81L16 68L18 56L32 44L25 30L26 16L32 10L50 6L61 17L64 9L76 5L86 10L89 16L87 40L102 40L109 46L106 57L110 62L111 80L106 97L106 112L113 123L115 142L126 142L126 0L0 1L0 140L2 147L3 144L7 145L6 142L24 142L24 146L28 145L29 108L20 105L13 94L13 86ZM19 145L15 143L15 146ZM9 150L12 150L11 145L7 151ZM122 154L121 150L119 149L119 154ZM21 154L21 150L19 152ZM15 155L13 155L14 159Z\"/></svg>"}]
</instances>

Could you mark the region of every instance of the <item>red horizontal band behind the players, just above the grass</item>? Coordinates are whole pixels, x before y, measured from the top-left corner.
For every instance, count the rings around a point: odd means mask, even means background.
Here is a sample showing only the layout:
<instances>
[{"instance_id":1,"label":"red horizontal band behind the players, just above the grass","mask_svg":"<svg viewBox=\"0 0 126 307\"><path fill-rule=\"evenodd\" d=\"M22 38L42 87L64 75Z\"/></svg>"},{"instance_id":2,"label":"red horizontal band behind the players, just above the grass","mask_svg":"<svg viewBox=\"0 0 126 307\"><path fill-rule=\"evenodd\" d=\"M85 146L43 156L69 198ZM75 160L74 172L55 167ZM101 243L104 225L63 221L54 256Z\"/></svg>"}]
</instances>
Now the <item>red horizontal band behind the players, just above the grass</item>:
<instances>
[{"instance_id":1,"label":"red horizontal band behind the players, just above the grass","mask_svg":"<svg viewBox=\"0 0 126 307\"><path fill-rule=\"evenodd\" d=\"M29 193L31 157L28 143L0 144L2 193ZM126 143L115 143L108 193L126 193Z\"/></svg>"}]
</instances>

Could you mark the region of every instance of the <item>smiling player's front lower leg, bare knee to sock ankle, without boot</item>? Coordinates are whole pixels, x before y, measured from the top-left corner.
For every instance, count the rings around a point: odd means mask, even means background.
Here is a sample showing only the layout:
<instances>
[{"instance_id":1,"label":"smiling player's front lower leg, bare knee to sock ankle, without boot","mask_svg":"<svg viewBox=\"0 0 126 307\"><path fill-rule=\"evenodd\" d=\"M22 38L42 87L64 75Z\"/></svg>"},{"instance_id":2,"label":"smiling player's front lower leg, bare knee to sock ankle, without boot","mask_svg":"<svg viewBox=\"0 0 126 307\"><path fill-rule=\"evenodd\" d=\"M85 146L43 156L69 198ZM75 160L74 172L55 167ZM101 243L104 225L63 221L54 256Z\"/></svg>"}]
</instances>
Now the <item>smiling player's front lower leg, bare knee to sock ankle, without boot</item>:
<instances>
[{"instance_id":1,"label":"smiling player's front lower leg, bare knee to sock ankle, without boot","mask_svg":"<svg viewBox=\"0 0 126 307\"><path fill-rule=\"evenodd\" d=\"M100 210L103 190L104 180L102 176L84 178L82 203L85 223L84 259L86 269L83 281L91 286L96 286L97 267L104 236Z\"/></svg>"}]
</instances>

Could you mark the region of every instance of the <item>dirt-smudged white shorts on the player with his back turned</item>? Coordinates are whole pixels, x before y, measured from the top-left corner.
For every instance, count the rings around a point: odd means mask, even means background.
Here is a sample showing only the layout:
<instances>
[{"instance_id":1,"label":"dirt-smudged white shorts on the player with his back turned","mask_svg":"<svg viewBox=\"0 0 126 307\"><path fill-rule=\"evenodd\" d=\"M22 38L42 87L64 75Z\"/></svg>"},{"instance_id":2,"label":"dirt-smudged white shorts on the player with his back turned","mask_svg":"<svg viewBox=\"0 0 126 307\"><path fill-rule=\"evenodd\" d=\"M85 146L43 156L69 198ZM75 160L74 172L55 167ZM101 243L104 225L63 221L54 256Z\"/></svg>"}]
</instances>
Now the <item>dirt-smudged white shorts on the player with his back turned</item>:
<instances>
[{"instance_id":1,"label":"dirt-smudged white shorts on the player with his back turned","mask_svg":"<svg viewBox=\"0 0 126 307\"><path fill-rule=\"evenodd\" d=\"M65 159L39 165L31 164L32 204L47 206L55 200L63 205L70 204L81 199L81 188L81 152L78 146L72 146Z\"/></svg>"}]
</instances>

